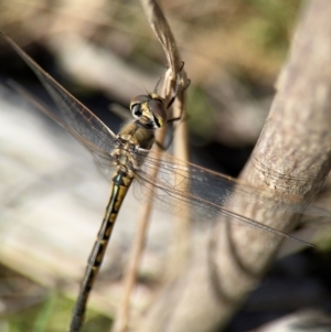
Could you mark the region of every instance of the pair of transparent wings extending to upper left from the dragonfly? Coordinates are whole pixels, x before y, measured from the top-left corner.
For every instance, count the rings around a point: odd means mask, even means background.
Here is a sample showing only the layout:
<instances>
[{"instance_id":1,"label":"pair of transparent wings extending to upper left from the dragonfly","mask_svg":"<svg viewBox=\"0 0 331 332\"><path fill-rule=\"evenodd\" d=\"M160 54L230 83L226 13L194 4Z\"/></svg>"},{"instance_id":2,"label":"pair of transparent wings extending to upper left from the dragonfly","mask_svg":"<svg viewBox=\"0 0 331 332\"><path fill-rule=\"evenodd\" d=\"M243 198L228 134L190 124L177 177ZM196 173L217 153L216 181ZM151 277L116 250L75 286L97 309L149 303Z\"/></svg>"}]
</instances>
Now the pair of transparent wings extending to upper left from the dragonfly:
<instances>
[{"instance_id":1,"label":"pair of transparent wings extending to upper left from the dragonfly","mask_svg":"<svg viewBox=\"0 0 331 332\"><path fill-rule=\"evenodd\" d=\"M109 179L113 174L113 157L110 152L116 148L117 136L86 106L79 103L50 74L43 71L19 45L0 32L0 36L24 60L39 77L43 86L53 98L58 114L42 105L20 85L11 82L10 85L31 104L65 128L75 139L83 143L94 156L100 171ZM143 159L148 151L139 149L136 160Z\"/></svg>"}]
</instances>

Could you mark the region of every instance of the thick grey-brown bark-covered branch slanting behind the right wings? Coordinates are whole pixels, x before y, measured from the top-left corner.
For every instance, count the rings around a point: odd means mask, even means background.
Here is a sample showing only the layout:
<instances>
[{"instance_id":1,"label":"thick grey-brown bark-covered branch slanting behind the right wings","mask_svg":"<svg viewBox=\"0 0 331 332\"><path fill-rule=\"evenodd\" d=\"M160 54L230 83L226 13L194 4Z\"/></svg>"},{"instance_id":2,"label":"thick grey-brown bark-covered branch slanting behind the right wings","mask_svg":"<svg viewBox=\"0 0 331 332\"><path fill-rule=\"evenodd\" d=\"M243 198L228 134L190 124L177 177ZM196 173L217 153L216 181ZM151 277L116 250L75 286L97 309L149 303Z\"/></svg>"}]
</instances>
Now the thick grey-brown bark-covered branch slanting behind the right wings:
<instances>
[{"instance_id":1,"label":"thick grey-brown bark-covered branch slanting behind the right wings","mask_svg":"<svg viewBox=\"0 0 331 332\"><path fill-rule=\"evenodd\" d=\"M309 3L278 81L254 153L241 178L277 200L310 202L331 165L331 1ZM289 212L238 211L286 233ZM225 325L273 260L281 239L260 229L220 223L190 267L146 314L139 331L201 332ZM212 254L212 255L211 255Z\"/></svg>"}]
</instances>

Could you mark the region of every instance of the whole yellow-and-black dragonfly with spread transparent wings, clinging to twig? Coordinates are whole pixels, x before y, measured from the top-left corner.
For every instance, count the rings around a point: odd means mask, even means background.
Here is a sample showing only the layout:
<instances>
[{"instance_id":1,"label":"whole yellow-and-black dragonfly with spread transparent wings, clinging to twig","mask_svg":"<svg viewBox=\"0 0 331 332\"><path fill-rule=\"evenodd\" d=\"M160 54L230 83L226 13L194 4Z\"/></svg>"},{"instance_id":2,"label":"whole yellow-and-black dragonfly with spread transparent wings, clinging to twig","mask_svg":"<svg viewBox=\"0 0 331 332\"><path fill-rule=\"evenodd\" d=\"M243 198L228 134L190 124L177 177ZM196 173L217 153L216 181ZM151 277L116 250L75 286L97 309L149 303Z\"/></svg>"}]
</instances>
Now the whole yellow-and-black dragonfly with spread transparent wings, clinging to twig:
<instances>
[{"instance_id":1,"label":"whole yellow-and-black dragonfly with spread transparent wings, clinging to twig","mask_svg":"<svg viewBox=\"0 0 331 332\"><path fill-rule=\"evenodd\" d=\"M220 215L231 217L232 221L241 224L309 245L305 240L234 211L237 206L249 204L253 199L261 202L264 208L277 204L278 210L295 213L302 212L300 204L281 201L275 203L275 200L268 197L261 190L239 183L235 179L181 161L167 153L150 151L156 142L156 130L172 120L168 119L169 105L166 105L164 98L157 92L132 98L130 110L134 120L124 126L118 135L115 135L109 127L42 69L9 36L2 32L0 32L0 36L35 73L57 106L58 114L40 106L38 103L34 104L87 148L98 167L107 175L110 174L109 170L116 169L111 175L110 199L89 255L73 310L71 332L78 332L84 324L90 290L103 263L121 203L134 181L142 188L146 184L152 184L156 190L156 200L162 204L171 204L174 210L189 208L193 212L192 215L197 218L203 216L204 219L216 219L220 218ZM18 86L15 89L30 100L34 98ZM158 176L152 178L152 171L156 169L159 169ZM236 191L235 196L232 195L234 189ZM310 208L310 213L312 215L321 214L318 208Z\"/></svg>"}]
</instances>

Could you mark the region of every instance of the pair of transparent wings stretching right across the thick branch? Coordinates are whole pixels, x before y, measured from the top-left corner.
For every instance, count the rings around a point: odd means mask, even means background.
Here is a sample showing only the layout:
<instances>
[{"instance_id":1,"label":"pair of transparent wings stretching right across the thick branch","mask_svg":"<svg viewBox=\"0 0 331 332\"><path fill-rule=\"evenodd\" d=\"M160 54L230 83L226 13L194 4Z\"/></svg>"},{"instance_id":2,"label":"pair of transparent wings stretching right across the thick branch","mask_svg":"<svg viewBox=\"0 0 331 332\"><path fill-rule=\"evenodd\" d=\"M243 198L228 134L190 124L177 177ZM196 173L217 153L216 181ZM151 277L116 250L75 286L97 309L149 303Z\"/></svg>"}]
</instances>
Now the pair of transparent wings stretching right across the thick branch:
<instances>
[{"instance_id":1,"label":"pair of transparent wings stretching right across the thick branch","mask_svg":"<svg viewBox=\"0 0 331 332\"><path fill-rule=\"evenodd\" d=\"M151 174L156 168L159 169L159 173L158 178L153 179ZM136 179L142 190L145 183L154 185L154 196L161 205L170 206L179 215L181 211L188 210L193 218L200 221L216 221L220 215L227 215L242 224L287 236L282 232L239 215L239 211L252 206L254 202L254 208L257 210L273 208L291 213L302 213L305 210L306 215L331 216L329 212L316 206L307 208L296 202L295 197L286 202L280 199L277 201L264 190L166 153L151 151L141 170L137 172Z\"/></svg>"}]
</instances>

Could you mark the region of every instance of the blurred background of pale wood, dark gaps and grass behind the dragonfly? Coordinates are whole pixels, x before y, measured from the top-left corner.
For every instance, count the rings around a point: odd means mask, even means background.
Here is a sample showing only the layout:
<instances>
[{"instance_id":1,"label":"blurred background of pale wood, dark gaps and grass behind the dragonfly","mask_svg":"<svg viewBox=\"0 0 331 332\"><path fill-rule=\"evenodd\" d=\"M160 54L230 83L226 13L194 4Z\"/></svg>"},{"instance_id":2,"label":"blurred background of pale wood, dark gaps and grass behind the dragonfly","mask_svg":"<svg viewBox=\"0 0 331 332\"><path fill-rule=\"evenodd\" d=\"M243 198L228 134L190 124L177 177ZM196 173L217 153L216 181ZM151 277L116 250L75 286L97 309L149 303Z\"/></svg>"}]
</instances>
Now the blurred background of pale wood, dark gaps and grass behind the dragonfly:
<instances>
[{"instance_id":1,"label":"blurred background of pale wood, dark gaps and grass behind the dragonfly","mask_svg":"<svg viewBox=\"0 0 331 332\"><path fill-rule=\"evenodd\" d=\"M268 115L303 2L162 1L191 78L186 109L192 162L239 173ZM115 132L122 120L111 110L125 111L134 96L153 90L167 68L138 1L0 1L0 30ZM54 107L2 42L0 331L63 331L109 185L88 152L17 96L8 78ZM139 207L135 200L128 202L84 331L106 331L111 323L135 232L130 212ZM158 225L149 231L134 315L150 301L171 242L168 217L153 218ZM307 250L279 260L228 331L247 331L302 308L330 310L329 255L327 247L319 255Z\"/></svg>"}]
</instances>

